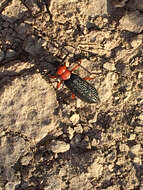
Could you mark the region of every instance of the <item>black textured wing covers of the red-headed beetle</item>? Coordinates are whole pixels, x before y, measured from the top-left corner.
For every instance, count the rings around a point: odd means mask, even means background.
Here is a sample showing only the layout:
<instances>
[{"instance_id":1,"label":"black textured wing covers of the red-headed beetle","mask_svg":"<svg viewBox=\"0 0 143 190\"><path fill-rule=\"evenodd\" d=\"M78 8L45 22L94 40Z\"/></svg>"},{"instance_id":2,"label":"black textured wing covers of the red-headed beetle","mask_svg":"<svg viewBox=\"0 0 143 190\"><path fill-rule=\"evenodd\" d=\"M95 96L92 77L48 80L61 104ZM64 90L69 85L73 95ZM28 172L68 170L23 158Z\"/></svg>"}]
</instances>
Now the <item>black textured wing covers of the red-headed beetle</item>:
<instances>
[{"instance_id":1,"label":"black textured wing covers of the red-headed beetle","mask_svg":"<svg viewBox=\"0 0 143 190\"><path fill-rule=\"evenodd\" d=\"M88 103L99 102L97 90L86 80L76 74L71 74L70 79L64 81L65 85L81 100Z\"/></svg>"}]
</instances>

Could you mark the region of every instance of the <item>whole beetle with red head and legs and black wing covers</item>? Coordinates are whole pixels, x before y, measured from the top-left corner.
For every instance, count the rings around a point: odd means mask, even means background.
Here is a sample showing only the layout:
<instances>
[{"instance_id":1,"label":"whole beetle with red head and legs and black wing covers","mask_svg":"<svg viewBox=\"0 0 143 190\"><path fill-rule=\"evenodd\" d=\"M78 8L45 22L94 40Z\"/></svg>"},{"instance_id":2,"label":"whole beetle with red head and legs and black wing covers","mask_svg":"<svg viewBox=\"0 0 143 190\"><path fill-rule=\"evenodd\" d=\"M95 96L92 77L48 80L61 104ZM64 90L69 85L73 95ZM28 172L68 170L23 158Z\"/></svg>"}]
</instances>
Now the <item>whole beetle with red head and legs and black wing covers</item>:
<instances>
[{"instance_id":1,"label":"whole beetle with red head and legs and black wing covers","mask_svg":"<svg viewBox=\"0 0 143 190\"><path fill-rule=\"evenodd\" d=\"M79 65L76 65L73 69L69 70L66 65L59 66L56 72L56 76L50 76L51 78L59 78L60 82L57 83L57 88L64 82L66 87L71 90L72 98L77 96L81 100L87 103L98 103L100 101L96 88L88 83L86 80L92 78L85 77L82 79L77 74L72 73Z\"/></svg>"}]
</instances>

